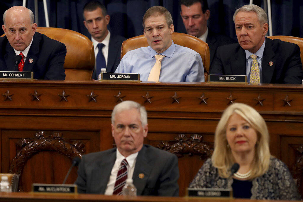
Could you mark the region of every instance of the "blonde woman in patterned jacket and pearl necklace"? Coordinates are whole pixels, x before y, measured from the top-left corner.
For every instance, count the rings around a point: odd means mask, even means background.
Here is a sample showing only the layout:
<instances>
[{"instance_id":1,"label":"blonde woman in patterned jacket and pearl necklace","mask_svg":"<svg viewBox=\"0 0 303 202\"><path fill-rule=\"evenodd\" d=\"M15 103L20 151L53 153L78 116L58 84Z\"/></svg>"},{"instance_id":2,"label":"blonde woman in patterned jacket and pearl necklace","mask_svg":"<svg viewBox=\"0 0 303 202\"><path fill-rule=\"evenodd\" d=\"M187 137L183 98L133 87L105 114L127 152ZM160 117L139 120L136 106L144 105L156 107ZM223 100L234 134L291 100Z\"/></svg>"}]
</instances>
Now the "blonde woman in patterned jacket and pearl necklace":
<instances>
[{"instance_id":1,"label":"blonde woman in patterned jacket and pearl necklace","mask_svg":"<svg viewBox=\"0 0 303 202\"><path fill-rule=\"evenodd\" d=\"M234 163L240 168L228 178ZM222 114L214 153L189 187L232 187L236 198L301 200L287 166L270 154L264 119L241 103L232 104Z\"/></svg>"}]
</instances>

